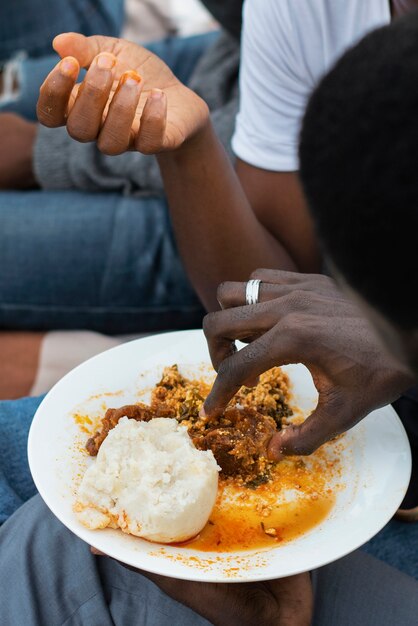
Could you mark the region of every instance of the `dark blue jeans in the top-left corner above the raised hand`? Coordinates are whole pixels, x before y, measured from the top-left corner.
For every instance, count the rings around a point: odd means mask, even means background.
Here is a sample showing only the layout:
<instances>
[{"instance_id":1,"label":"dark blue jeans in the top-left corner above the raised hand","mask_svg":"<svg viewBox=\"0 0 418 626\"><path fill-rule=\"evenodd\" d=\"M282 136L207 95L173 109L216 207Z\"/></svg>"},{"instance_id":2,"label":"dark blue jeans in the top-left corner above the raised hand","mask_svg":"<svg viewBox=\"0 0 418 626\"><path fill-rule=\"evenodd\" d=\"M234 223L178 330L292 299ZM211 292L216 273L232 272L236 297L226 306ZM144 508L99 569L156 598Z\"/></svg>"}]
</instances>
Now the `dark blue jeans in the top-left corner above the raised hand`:
<instances>
[{"instance_id":1,"label":"dark blue jeans in the top-left corner above the raised hand","mask_svg":"<svg viewBox=\"0 0 418 626\"><path fill-rule=\"evenodd\" d=\"M2 0L0 62L21 51L28 57L48 55L59 33L117 37L123 4L123 0Z\"/></svg>"}]
</instances>

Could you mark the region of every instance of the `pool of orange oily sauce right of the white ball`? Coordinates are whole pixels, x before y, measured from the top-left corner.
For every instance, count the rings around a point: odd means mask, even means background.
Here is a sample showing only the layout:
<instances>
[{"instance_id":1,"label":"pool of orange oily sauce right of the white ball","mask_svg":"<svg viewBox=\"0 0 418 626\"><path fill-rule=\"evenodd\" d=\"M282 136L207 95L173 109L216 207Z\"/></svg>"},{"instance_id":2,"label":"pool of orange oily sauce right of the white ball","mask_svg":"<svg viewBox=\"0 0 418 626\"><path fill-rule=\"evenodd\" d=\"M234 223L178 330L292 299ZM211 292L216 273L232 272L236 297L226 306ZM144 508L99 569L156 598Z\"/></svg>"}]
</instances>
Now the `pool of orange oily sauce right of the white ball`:
<instances>
[{"instance_id":1,"label":"pool of orange oily sauce right of the white ball","mask_svg":"<svg viewBox=\"0 0 418 626\"><path fill-rule=\"evenodd\" d=\"M291 501L284 501L287 490L294 494ZM221 478L209 522L197 537L175 545L203 552L273 548L320 524L334 503L322 463L308 468L303 460L287 459L256 489Z\"/></svg>"}]
</instances>

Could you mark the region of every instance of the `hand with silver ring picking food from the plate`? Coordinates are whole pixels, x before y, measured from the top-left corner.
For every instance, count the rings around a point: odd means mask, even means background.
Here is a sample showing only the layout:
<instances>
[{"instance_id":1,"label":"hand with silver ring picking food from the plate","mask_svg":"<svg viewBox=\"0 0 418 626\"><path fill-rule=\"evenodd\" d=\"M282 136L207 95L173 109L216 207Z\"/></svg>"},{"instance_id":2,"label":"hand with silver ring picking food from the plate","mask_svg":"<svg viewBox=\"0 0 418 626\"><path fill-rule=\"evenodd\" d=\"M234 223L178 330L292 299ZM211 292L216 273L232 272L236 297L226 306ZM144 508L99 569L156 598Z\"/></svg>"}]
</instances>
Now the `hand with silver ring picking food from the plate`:
<instances>
[{"instance_id":1,"label":"hand with silver ring picking food from the plate","mask_svg":"<svg viewBox=\"0 0 418 626\"><path fill-rule=\"evenodd\" d=\"M273 435L271 459L310 454L412 384L330 278L274 270L257 270L252 278L262 281L257 304L244 304L246 283L224 283L218 289L223 310L204 319L218 372L204 409L216 415L241 385L273 366L306 365L318 405L303 424ZM235 340L249 345L237 352Z\"/></svg>"}]
</instances>

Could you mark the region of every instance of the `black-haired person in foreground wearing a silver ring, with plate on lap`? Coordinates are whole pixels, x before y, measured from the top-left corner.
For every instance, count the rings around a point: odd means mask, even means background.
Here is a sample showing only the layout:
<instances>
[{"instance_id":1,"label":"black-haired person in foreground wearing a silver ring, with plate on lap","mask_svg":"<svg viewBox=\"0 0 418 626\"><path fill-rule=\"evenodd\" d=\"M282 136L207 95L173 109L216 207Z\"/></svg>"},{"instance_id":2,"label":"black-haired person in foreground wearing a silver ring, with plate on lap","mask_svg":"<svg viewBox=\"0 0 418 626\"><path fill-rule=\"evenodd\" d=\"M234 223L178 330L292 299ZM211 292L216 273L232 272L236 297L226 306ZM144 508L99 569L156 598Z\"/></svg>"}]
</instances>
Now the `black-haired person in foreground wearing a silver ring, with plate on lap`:
<instances>
[{"instance_id":1,"label":"black-haired person in foreground wearing a silver ring, with plate on lap","mask_svg":"<svg viewBox=\"0 0 418 626\"><path fill-rule=\"evenodd\" d=\"M261 335L253 342L247 370L242 366L246 362L242 353L227 357L206 404L207 412L219 408L249 373L258 374L289 358L304 361L308 350L309 365L324 385L319 389L320 410L313 414L309 426L290 431L285 441L276 439L271 446L273 456L295 450L309 452L372 408L393 400L417 380L417 322L406 289L410 274L405 272L405 267L413 272L417 265L416 247L411 245L415 243L417 226L414 206L418 190L411 166L417 145L413 132L417 98L410 89L411 80L418 74L417 42L417 16L369 35L320 84L302 129L301 177L325 254L338 280L367 313L392 355L379 347L357 305L348 304L325 277L263 272L259 276L266 282L261 290L264 302L252 305L245 315L239 310L227 310L206 321L213 355L219 345L216 339L223 339L231 351L231 342L237 336ZM387 84L391 81L388 98ZM173 91L167 91L175 98L182 88L173 85L170 89ZM161 147L164 142L174 141L180 121L174 124L169 112L165 127L164 96L160 91L149 95L148 110L136 138L142 148L151 142ZM190 95L192 103L197 105L198 101ZM104 134L102 140L105 142L108 136ZM189 146L182 148L186 156L191 145L193 138ZM162 162L166 156L161 157ZM169 159L162 163L167 174L170 166ZM195 184L193 178L190 184ZM343 203L344 210L339 210L337 201ZM376 219L376 215L385 219ZM393 229L401 236L401 243L397 254L388 259L388 249L394 243ZM357 242L355 254L348 246L352 240ZM242 285L232 287L222 288L222 302L236 307L244 302L244 291ZM247 319L251 323L246 326ZM231 321L225 332L223 323ZM223 362L226 348L221 354ZM367 396L362 391L364 381ZM331 400L333 420L325 419L327 400ZM347 402L352 409L351 421L344 407ZM338 407L343 409L335 415ZM92 556L85 544L47 512L39 497L6 522L0 531L0 547L1 570L11 588L19 589L18 596L3 591L2 617L9 622L123 624L136 620L141 624L197 625L210 620L213 624L259 622L282 626L416 623L418 583L360 553L313 572L312 579L301 574L243 585L164 579ZM42 570L38 563L42 563ZM170 601L149 580L194 612Z\"/></svg>"}]
</instances>

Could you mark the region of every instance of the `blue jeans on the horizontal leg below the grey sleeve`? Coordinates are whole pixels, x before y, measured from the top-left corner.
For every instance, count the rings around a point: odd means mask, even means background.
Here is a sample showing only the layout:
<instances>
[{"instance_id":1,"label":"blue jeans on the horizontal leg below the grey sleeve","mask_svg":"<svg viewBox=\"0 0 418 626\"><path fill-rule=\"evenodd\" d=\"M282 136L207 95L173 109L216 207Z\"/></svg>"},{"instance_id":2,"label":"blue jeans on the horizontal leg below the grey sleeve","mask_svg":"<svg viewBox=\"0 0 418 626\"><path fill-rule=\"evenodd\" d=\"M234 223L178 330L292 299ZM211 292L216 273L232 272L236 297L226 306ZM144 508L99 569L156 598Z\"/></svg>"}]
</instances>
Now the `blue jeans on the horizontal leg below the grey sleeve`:
<instances>
[{"instance_id":1,"label":"blue jeans on the horizontal leg below the grey sleeve","mask_svg":"<svg viewBox=\"0 0 418 626\"><path fill-rule=\"evenodd\" d=\"M149 48L187 82L216 36ZM48 70L42 59L36 76L37 62L30 63L21 105L34 111ZM0 328L131 333L201 324L165 197L0 192L0 222Z\"/></svg>"}]
</instances>

